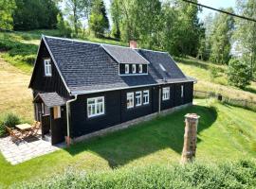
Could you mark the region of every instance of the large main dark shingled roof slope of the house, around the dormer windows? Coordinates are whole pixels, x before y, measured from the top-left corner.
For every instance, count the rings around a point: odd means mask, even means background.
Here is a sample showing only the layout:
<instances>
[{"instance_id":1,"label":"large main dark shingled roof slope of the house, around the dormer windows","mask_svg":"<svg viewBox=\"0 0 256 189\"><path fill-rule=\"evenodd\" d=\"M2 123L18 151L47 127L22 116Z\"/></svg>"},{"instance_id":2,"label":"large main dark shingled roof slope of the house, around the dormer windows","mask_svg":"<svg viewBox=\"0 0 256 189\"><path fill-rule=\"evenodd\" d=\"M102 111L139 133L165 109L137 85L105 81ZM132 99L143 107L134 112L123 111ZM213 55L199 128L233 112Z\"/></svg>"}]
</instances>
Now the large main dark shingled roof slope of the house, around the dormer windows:
<instances>
[{"instance_id":1,"label":"large main dark shingled roof slope of the house, around the dormer windows","mask_svg":"<svg viewBox=\"0 0 256 189\"><path fill-rule=\"evenodd\" d=\"M86 43L62 38L44 37L53 59L64 77L71 94L91 93L95 91L131 88L140 85L154 85L168 82L192 81L185 77L168 53L148 51L142 49L130 49L101 43ZM107 46L107 47L106 47ZM111 47L110 47L111 46ZM135 52L135 61L144 63L149 61L148 75L143 76L119 76L118 60L110 56L105 49L114 49L121 52L129 49ZM117 50L118 49L118 50ZM121 49L121 50L119 50ZM112 51L113 52L113 51ZM126 54L119 54L119 60L128 59ZM163 72L159 67L161 63L167 70Z\"/></svg>"}]
</instances>

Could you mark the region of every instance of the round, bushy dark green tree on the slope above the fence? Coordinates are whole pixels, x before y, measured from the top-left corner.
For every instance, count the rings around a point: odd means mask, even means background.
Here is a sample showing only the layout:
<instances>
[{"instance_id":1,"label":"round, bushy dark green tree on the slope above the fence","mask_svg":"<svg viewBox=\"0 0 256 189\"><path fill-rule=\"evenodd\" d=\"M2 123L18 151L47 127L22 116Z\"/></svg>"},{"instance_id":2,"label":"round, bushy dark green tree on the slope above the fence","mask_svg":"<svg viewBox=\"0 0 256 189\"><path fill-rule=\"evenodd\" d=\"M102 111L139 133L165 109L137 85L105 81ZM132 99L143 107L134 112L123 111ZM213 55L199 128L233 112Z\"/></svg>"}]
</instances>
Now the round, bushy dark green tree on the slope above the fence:
<instances>
[{"instance_id":1,"label":"round, bushy dark green tree on the slope above the fence","mask_svg":"<svg viewBox=\"0 0 256 189\"><path fill-rule=\"evenodd\" d=\"M244 89L250 84L250 68L245 62L229 60L229 84Z\"/></svg>"}]
</instances>

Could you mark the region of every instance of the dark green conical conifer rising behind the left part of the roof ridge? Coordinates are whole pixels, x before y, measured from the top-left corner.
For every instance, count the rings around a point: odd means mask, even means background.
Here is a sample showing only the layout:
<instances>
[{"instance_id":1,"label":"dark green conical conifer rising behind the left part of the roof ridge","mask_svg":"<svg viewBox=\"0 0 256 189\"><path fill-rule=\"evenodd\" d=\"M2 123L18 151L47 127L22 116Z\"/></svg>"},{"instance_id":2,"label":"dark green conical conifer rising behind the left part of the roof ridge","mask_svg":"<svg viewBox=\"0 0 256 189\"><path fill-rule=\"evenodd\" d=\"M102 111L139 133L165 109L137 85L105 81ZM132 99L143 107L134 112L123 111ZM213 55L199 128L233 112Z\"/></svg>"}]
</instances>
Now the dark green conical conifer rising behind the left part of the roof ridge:
<instances>
[{"instance_id":1,"label":"dark green conical conifer rising behind the left part of the roof ridge","mask_svg":"<svg viewBox=\"0 0 256 189\"><path fill-rule=\"evenodd\" d=\"M89 17L89 27L95 36L101 37L109 28L106 9L102 0L94 0Z\"/></svg>"}]
</instances>

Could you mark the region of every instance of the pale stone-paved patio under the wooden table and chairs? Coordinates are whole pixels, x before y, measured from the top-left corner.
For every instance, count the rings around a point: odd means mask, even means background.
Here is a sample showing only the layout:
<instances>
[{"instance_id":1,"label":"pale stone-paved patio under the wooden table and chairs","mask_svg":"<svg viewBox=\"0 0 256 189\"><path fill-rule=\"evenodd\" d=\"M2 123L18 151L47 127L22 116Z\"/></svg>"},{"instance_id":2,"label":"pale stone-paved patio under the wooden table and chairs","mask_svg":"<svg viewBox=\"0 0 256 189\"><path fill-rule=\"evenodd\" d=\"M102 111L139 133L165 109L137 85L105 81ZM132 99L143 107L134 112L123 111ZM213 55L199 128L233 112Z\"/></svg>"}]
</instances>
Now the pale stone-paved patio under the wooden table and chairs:
<instances>
[{"instance_id":1,"label":"pale stone-paved patio under the wooden table and chairs","mask_svg":"<svg viewBox=\"0 0 256 189\"><path fill-rule=\"evenodd\" d=\"M35 157L45 155L64 147L64 144L52 146L41 137L30 137L19 142L13 142L11 137L0 138L0 151L11 164L26 162Z\"/></svg>"}]
</instances>

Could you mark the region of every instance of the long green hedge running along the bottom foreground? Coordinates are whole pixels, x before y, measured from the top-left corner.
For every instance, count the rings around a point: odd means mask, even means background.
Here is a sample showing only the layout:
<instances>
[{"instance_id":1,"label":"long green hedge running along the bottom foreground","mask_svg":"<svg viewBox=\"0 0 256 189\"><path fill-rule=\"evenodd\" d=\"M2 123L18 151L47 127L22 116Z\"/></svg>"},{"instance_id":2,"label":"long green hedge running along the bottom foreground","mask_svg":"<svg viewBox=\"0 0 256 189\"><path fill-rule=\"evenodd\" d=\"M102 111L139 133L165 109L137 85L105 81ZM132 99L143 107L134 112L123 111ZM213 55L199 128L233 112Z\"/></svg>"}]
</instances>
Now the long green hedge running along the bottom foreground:
<instances>
[{"instance_id":1,"label":"long green hedge running along the bottom foreground","mask_svg":"<svg viewBox=\"0 0 256 189\"><path fill-rule=\"evenodd\" d=\"M98 173L69 170L62 175L14 188L255 188L256 164L236 163L151 165Z\"/></svg>"}]
</instances>

